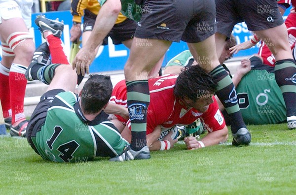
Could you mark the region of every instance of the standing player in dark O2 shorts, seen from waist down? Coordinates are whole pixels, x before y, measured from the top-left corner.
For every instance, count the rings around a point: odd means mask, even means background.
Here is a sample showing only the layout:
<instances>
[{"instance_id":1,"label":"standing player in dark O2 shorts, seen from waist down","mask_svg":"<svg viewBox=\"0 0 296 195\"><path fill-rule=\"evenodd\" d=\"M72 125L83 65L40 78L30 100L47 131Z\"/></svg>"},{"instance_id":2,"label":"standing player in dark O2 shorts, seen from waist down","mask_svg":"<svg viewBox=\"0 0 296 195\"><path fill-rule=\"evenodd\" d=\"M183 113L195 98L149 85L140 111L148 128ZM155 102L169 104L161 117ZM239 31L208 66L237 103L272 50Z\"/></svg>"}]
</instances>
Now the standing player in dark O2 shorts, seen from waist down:
<instances>
[{"instance_id":1,"label":"standing player in dark O2 shorts, seen from waist down","mask_svg":"<svg viewBox=\"0 0 296 195\"><path fill-rule=\"evenodd\" d=\"M229 0L215 1L217 13L215 42L218 56L234 25L245 21L248 29L259 39L264 40L274 56L275 80L287 107L287 126L290 130L296 129L296 62L292 56L287 27L279 11L278 1L235 0L231 3ZM292 4L295 5L295 0L293 1ZM267 9L264 8L266 5Z\"/></svg>"}]
</instances>

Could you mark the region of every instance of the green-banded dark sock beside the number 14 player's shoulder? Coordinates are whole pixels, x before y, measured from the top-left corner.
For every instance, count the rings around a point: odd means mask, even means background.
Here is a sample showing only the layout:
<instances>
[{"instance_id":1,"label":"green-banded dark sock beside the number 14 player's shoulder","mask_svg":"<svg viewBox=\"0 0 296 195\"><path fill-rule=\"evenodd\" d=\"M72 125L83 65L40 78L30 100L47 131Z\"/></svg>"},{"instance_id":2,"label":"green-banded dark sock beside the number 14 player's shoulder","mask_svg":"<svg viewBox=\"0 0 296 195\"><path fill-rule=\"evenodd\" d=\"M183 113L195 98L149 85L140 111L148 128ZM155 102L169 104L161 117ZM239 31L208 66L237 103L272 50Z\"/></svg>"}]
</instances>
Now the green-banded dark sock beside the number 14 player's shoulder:
<instances>
[{"instance_id":1,"label":"green-banded dark sock beside the number 14 player's shoulder","mask_svg":"<svg viewBox=\"0 0 296 195\"><path fill-rule=\"evenodd\" d=\"M126 81L127 107L131 121L131 147L135 151L147 145L147 109L150 102L148 80Z\"/></svg>"}]
</instances>

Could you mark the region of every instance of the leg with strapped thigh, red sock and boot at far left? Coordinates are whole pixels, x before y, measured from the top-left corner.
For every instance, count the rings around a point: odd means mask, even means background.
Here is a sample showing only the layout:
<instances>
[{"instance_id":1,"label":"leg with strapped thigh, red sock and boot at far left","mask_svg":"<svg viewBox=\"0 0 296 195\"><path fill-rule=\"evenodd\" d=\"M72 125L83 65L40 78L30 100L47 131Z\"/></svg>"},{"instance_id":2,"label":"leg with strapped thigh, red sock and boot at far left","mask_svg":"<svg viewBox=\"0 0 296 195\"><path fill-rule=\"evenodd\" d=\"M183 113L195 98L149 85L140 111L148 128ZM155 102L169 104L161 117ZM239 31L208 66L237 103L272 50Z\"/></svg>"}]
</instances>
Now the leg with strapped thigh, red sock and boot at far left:
<instances>
[{"instance_id":1,"label":"leg with strapped thigh, red sock and boot at far left","mask_svg":"<svg viewBox=\"0 0 296 195\"><path fill-rule=\"evenodd\" d=\"M30 35L27 26L22 18L2 18L0 24L1 40L6 40L9 53L14 53L13 63L11 60L4 59L3 66L10 67L9 72L9 93L11 105L11 128L12 136L26 136L27 120L24 114L24 97L26 91L27 80L25 71L30 65L35 44L33 36ZM4 57L5 58L5 57ZM7 63L7 64L6 64ZM8 91L8 90L7 90Z\"/></svg>"}]
</instances>

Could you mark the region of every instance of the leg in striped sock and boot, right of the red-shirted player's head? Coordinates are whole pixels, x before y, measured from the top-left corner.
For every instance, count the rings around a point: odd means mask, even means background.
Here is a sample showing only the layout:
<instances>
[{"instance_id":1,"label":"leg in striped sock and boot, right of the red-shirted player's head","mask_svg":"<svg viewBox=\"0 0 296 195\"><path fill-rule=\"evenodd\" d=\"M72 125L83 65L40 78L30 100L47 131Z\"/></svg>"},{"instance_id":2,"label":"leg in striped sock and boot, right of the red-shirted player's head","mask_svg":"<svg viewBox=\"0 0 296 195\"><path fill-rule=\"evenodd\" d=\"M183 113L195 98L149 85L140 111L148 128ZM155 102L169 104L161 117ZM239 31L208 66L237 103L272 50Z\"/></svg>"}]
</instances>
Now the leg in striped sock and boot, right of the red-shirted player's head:
<instances>
[{"instance_id":1,"label":"leg in striped sock and boot, right of the red-shirted player's head","mask_svg":"<svg viewBox=\"0 0 296 195\"><path fill-rule=\"evenodd\" d=\"M220 65L217 53L212 51L212 48L215 48L215 35L212 35L199 43L188 43L188 47L190 52L192 51L192 55L195 60L218 80L219 87L216 94L222 101L222 104L224 105L228 115L232 119L232 144L248 145L251 142L251 134L247 130L247 127L243 121L243 117L237 102L235 87L226 70L222 65ZM222 50L223 48L224 44L222 45Z\"/></svg>"}]
</instances>

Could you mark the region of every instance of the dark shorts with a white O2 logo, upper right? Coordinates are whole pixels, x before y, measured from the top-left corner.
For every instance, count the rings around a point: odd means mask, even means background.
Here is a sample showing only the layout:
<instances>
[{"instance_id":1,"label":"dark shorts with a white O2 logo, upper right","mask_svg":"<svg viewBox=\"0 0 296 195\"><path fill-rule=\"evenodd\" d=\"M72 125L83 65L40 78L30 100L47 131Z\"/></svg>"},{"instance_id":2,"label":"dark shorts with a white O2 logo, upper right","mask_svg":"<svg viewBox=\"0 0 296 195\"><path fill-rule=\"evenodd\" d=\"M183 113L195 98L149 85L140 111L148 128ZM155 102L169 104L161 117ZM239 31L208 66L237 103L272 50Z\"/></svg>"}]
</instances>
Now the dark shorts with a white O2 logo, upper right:
<instances>
[{"instance_id":1,"label":"dark shorts with a white O2 logo, upper right","mask_svg":"<svg viewBox=\"0 0 296 195\"><path fill-rule=\"evenodd\" d=\"M261 31L284 23L277 0L216 0L217 32L228 38L234 25L246 22L249 31Z\"/></svg>"}]
</instances>

